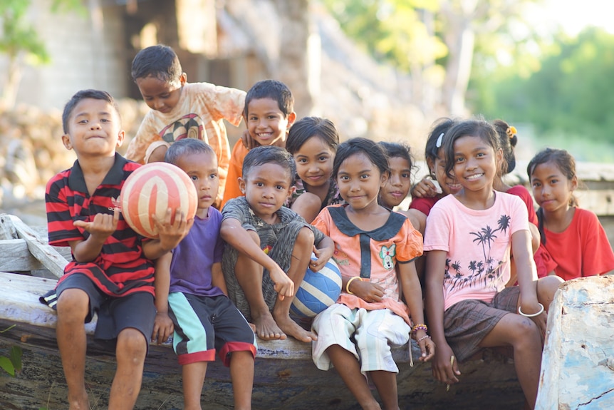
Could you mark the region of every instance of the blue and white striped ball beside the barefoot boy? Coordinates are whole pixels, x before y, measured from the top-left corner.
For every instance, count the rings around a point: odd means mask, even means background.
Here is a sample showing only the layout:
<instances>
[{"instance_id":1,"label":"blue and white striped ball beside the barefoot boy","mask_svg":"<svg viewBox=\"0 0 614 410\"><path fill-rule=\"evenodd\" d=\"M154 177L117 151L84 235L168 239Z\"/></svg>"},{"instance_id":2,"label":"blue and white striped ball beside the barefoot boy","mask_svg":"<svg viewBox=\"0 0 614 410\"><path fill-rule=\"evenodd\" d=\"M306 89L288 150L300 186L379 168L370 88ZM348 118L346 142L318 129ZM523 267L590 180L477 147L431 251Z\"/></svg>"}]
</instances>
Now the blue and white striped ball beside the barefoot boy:
<instances>
[{"instance_id":1,"label":"blue and white striped ball beside the barefoot boy","mask_svg":"<svg viewBox=\"0 0 614 410\"><path fill-rule=\"evenodd\" d=\"M311 259L316 260L316 255L312 254ZM301 286L296 289L290 312L298 317L316 316L337 302L341 283L341 272L332 258L319 272L308 269Z\"/></svg>"}]
</instances>

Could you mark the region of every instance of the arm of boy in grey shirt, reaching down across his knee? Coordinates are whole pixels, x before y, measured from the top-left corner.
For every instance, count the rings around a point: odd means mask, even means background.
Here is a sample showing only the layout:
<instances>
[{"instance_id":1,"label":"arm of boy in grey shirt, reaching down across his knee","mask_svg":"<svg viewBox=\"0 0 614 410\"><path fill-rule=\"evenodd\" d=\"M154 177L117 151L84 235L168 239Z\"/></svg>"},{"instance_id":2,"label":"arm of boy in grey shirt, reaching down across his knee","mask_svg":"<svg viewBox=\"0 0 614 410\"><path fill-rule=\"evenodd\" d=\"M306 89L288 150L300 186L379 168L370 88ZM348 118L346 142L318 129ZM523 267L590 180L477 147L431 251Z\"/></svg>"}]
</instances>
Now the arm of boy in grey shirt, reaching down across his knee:
<instances>
[{"instance_id":1,"label":"arm of boy in grey shirt, reaching down across his knee","mask_svg":"<svg viewBox=\"0 0 614 410\"><path fill-rule=\"evenodd\" d=\"M219 235L222 236L222 239L228 245L251 258L251 260L263 266L266 270L269 270L269 275L271 280L273 280L275 291L279 294L279 299L283 299L286 296L290 297L294 294L294 282L277 265L277 262L262 252L247 230L241 226L239 220L234 218L222 220Z\"/></svg>"}]
</instances>

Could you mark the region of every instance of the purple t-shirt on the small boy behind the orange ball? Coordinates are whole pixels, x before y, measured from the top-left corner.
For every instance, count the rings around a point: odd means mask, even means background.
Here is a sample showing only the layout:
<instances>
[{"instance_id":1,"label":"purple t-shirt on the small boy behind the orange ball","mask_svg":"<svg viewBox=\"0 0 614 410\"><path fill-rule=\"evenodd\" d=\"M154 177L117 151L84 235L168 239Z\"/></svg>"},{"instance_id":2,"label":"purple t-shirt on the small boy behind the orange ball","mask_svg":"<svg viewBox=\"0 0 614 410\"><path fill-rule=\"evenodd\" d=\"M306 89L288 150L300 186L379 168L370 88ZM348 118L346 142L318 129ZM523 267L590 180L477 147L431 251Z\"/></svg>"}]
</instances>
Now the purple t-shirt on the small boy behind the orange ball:
<instances>
[{"instance_id":1,"label":"purple t-shirt on the small boy behind the orange ball","mask_svg":"<svg viewBox=\"0 0 614 410\"><path fill-rule=\"evenodd\" d=\"M211 283L211 267L222 262L224 241L219 236L222 214L209 207L205 219L194 217L194 225L186 237L172 251L170 262L170 291L217 296L222 289Z\"/></svg>"}]
</instances>

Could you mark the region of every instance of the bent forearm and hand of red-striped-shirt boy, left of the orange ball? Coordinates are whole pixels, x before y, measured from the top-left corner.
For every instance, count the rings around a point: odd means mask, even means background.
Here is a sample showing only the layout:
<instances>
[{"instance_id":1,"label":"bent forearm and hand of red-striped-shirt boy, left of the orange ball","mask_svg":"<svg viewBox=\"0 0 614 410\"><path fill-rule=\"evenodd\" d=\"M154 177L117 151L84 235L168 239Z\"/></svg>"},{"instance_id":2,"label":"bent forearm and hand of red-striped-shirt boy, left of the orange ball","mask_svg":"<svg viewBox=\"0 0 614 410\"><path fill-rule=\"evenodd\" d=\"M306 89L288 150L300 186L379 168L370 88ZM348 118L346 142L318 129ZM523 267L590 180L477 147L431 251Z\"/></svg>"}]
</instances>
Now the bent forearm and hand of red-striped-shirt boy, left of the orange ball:
<instances>
[{"instance_id":1,"label":"bent forearm and hand of red-striped-shirt boy, left of the orange ball","mask_svg":"<svg viewBox=\"0 0 614 410\"><path fill-rule=\"evenodd\" d=\"M68 242L68 245L71 245L75 260L77 262L91 262L95 260L103 250L105 240L118 229L119 220L120 211L118 208L115 208L113 215L99 213L95 215L92 222L85 222L83 220L73 222L73 225L76 227L82 227L90 233L86 240Z\"/></svg>"}]
</instances>

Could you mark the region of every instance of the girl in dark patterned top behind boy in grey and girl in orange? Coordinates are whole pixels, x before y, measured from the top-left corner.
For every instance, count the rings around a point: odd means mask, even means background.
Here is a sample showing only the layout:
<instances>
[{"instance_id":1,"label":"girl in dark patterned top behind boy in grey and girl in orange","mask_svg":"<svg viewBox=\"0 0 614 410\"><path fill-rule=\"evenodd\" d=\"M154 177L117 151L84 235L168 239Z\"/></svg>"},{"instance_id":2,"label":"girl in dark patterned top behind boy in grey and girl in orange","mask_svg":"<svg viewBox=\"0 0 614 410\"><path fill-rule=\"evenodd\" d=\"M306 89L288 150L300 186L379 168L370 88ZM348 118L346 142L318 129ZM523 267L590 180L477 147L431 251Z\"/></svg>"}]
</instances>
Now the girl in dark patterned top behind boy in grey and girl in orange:
<instances>
[{"instance_id":1,"label":"girl in dark patterned top behind boy in grey and girl in orange","mask_svg":"<svg viewBox=\"0 0 614 410\"><path fill-rule=\"evenodd\" d=\"M337 145L339 133L326 118L301 118L288 132L286 150L296 162L296 190L286 205L309 223L323 207L343 203L331 179Z\"/></svg>"}]
</instances>

